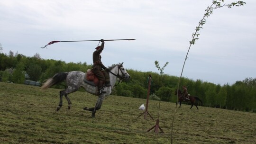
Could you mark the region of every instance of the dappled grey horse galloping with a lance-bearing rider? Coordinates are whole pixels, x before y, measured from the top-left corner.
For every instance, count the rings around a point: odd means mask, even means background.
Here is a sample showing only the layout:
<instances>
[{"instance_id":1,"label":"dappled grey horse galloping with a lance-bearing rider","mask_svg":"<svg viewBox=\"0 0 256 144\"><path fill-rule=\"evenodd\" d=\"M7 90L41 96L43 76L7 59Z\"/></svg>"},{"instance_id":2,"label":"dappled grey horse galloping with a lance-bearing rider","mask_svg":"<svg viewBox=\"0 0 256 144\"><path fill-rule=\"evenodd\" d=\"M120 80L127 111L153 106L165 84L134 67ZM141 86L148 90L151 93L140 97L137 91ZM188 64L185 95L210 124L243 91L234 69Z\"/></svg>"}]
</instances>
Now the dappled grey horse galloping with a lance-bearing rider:
<instances>
[{"instance_id":1,"label":"dappled grey horse galloping with a lance-bearing rider","mask_svg":"<svg viewBox=\"0 0 256 144\"><path fill-rule=\"evenodd\" d=\"M104 87L104 91L106 93L103 93L99 95L99 98L96 102L96 105L94 108L83 108L85 110L92 111L91 116L95 117L96 110L99 110L101 108L102 101L104 97L109 96L113 87L115 86L115 83L117 81L117 78L119 80L129 80L130 76L128 72L123 67L123 63L114 64L108 68L110 73L110 84L111 87ZM77 91L80 87L84 88L87 92L97 95L97 86L94 85L91 81L85 80L86 73L80 72L80 71L72 71L72 72L60 72L56 73L52 78L48 79L42 86L42 90L46 90L47 88L57 84L61 81L66 81L67 89L60 91L60 103L57 107L57 111L62 107L62 97L65 96L65 98L68 101L68 109L71 108L71 101L68 98L68 94Z\"/></svg>"}]
</instances>

